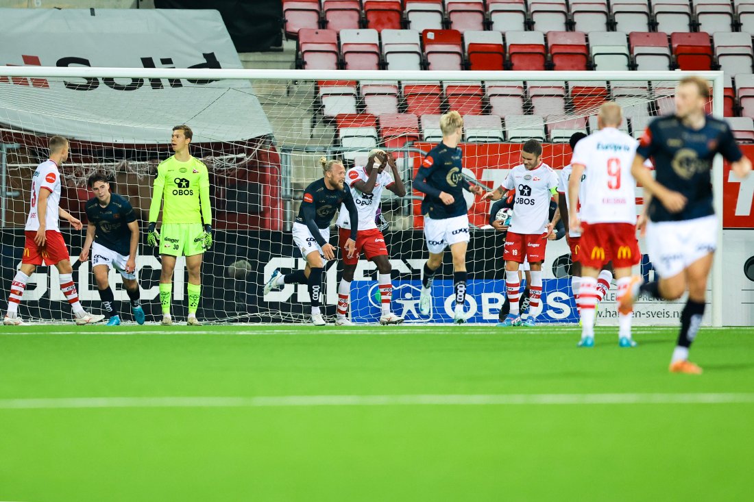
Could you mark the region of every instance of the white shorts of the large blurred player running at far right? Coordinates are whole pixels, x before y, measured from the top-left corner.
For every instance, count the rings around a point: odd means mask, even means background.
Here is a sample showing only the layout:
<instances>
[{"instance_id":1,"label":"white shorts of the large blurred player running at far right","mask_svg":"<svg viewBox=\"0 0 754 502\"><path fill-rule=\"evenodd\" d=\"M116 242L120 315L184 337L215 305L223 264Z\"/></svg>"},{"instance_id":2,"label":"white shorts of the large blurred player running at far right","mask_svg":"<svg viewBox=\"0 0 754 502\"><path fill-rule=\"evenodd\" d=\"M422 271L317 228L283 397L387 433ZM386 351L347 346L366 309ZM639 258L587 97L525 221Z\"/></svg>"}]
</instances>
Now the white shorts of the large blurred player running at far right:
<instances>
[{"instance_id":1,"label":"white shorts of the large blurred player running at far right","mask_svg":"<svg viewBox=\"0 0 754 502\"><path fill-rule=\"evenodd\" d=\"M647 249L660 277L680 274L717 248L717 216L680 222L648 222Z\"/></svg>"}]
</instances>

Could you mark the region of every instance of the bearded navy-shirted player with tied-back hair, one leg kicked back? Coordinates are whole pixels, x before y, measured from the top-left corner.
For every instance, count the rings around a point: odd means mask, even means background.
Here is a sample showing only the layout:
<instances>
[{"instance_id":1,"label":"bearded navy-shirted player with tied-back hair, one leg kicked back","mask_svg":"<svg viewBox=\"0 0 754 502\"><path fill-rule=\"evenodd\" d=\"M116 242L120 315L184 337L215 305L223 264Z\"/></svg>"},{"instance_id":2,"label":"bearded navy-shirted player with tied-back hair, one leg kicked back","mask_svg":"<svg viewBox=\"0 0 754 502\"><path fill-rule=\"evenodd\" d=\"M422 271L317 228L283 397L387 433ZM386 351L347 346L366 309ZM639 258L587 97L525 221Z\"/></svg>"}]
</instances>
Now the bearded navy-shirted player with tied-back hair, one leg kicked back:
<instances>
[{"instance_id":1,"label":"bearded navy-shirted player with tied-back hair, one leg kicked back","mask_svg":"<svg viewBox=\"0 0 754 502\"><path fill-rule=\"evenodd\" d=\"M345 187L345 167L340 161L320 158L324 177L312 182L304 191L304 199L299 208L299 216L293 223L293 241L299 246L306 259L306 268L283 275L275 269L265 284L265 295L272 289L285 284L307 284L311 298L311 323L324 326L327 323L320 311L322 274L324 260L335 259L335 246L329 240L329 225L341 204L348 210L351 231L345 240L346 256L350 259L356 253L359 213L351 191Z\"/></svg>"}]
</instances>

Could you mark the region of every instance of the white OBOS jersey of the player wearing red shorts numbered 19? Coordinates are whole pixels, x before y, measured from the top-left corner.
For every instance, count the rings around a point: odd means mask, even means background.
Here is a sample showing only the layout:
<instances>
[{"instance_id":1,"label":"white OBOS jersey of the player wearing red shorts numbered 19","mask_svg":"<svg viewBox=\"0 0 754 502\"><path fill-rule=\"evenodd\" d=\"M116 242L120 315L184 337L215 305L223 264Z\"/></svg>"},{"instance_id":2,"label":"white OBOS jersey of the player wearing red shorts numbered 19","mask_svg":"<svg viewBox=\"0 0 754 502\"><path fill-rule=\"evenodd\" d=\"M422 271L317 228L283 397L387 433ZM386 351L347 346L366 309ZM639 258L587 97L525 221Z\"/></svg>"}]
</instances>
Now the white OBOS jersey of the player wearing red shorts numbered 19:
<instances>
[{"instance_id":1,"label":"white OBOS jersey of the player wearing red shorts numbered 19","mask_svg":"<svg viewBox=\"0 0 754 502\"><path fill-rule=\"evenodd\" d=\"M503 182L504 188L516 189L508 231L514 234L544 234L550 222L551 190L557 185L558 175L547 164L541 163L532 170L527 170L523 164L513 167Z\"/></svg>"}]
</instances>

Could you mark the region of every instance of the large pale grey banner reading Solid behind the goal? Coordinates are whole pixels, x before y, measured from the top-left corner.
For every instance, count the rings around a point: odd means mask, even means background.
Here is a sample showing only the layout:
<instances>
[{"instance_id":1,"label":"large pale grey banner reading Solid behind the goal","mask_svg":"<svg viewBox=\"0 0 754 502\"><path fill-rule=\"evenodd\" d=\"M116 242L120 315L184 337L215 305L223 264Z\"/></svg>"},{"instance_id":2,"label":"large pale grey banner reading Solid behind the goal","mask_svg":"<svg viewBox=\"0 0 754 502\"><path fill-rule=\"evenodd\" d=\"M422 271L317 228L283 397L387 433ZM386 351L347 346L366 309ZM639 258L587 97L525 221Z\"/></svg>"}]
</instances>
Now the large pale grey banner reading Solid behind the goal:
<instances>
[{"instance_id":1,"label":"large pale grey banner reading Solid behind the goal","mask_svg":"<svg viewBox=\"0 0 754 502\"><path fill-rule=\"evenodd\" d=\"M4 65L241 69L217 11L0 9L0 123L121 145L167 144L176 124L195 144L272 131L249 81L8 78Z\"/></svg>"}]
</instances>

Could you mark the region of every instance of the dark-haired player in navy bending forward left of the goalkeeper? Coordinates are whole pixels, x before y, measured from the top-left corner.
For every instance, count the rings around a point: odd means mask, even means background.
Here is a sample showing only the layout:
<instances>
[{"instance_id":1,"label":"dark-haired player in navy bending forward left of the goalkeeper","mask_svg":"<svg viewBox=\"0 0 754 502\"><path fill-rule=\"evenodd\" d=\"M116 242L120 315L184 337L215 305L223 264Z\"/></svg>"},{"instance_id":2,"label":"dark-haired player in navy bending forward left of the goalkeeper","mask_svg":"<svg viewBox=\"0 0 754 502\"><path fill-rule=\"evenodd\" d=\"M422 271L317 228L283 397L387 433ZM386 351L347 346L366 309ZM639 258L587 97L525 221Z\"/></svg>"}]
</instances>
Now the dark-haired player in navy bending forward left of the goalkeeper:
<instances>
[{"instance_id":1,"label":"dark-haired player in navy bending forward left of the goalkeeper","mask_svg":"<svg viewBox=\"0 0 754 502\"><path fill-rule=\"evenodd\" d=\"M108 326L118 326L121 317L114 308L115 295L108 283L112 266L123 277L123 286L131 301L136 323L144 323L144 310L139 300L136 280L136 250L139 249L139 223L133 207L125 197L110 193L110 182L104 174L93 174L87 182L94 197L87 202L87 238L78 259L86 262L92 250L92 271L100 290L102 310L109 315Z\"/></svg>"}]
</instances>

